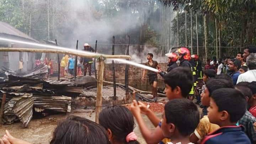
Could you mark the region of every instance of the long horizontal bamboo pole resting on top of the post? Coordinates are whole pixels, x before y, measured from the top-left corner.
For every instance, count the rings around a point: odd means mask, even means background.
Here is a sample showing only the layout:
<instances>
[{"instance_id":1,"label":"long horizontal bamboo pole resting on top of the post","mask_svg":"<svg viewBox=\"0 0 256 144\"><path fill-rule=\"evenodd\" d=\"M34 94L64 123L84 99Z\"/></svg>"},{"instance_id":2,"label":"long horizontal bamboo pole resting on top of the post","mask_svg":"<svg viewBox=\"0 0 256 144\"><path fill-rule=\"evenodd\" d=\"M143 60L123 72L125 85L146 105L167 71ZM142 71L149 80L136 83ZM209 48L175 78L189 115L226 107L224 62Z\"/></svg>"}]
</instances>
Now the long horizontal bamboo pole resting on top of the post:
<instances>
[{"instance_id":1,"label":"long horizontal bamboo pole resting on top of the post","mask_svg":"<svg viewBox=\"0 0 256 144\"><path fill-rule=\"evenodd\" d=\"M129 55L107 55L107 54L87 54L81 50L59 50L59 49L37 49L37 48L0 48L0 52L32 52L32 53L65 53L71 55L78 55L86 58L97 58L102 56L103 58L120 58L131 59Z\"/></svg>"}]
</instances>

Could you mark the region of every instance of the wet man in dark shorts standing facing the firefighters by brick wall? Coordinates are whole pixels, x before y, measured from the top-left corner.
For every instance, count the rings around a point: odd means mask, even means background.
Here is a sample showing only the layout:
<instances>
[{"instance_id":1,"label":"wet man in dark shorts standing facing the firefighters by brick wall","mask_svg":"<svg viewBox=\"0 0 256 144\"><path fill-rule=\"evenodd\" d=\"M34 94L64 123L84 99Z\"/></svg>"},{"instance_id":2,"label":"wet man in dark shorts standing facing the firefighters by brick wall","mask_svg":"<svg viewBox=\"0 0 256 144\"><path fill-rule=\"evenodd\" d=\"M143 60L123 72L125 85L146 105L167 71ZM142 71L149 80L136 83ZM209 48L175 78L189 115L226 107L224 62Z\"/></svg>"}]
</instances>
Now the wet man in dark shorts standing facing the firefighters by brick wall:
<instances>
[{"instance_id":1,"label":"wet man in dark shorts standing facing the firefighters by brick wall","mask_svg":"<svg viewBox=\"0 0 256 144\"><path fill-rule=\"evenodd\" d=\"M154 69L160 69L158 62L154 61L152 58L153 58L153 54L148 53L148 55L147 55L148 62L145 65L149 66L151 68L154 68ZM145 73L146 73L146 70L143 71L142 81L144 81ZM157 73L154 71L148 70L148 79L149 79L149 84L153 85L152 86L152 95L153 95L154 99L156 100L157 92L158 92L157 91Z\"/></svg>"}]
</instances>

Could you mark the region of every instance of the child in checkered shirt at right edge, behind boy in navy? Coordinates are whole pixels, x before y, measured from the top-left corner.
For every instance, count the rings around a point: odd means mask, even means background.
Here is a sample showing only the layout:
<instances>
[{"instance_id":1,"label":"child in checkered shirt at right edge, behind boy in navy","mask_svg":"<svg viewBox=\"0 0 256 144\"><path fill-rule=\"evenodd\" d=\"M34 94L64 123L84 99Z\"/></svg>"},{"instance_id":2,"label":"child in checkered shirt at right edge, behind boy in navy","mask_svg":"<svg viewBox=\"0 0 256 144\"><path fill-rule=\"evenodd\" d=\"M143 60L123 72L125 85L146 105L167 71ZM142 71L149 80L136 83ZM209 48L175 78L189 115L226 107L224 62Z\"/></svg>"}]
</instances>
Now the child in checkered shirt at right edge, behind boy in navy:
<instances>
[{"instance_id":1,"label":"child in checkered shirt at right edge, behind boy in navy","mask_svg":"<svg viewBox=\"0 0 256 144\"><path fill-rule=\"evenodd\" d=\"M239 90L244 95L245 100L248 103L248 100L250 100L252 97L252 91L250 90L250 88L245 85L239 85L238 83L235 86L235 89ZM247 137L251 140L251 143L253 144L256 143L256 132L253 125L255 122L256 118L252 116L252 114L249 111L247 111L247 109L244 116L242 116L242 118L238 121L239 124L244 126L244 132L247 135Z\"/></svg>"}]
</instances>

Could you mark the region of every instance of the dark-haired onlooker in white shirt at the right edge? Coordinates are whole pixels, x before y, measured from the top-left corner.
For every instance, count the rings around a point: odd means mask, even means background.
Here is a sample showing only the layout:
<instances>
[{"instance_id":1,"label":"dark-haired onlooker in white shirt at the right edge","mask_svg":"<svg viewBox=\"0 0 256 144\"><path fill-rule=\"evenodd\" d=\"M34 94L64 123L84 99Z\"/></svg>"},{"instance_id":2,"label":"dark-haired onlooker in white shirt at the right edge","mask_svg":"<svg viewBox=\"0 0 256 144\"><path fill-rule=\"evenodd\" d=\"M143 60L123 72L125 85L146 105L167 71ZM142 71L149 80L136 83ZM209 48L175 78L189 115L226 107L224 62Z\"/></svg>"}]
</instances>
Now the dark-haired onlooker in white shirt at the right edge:
<instances>
[{"instance_id":1,"label":"dark-haired onlooker in white shirt at the right edge","mask_svg":"<svg viewBox=\"0 0 256 144\"><path fill-rule=\"evenodd\" d=\"M237 83L242 81L256 81L256 53L252 53L246 58L246 64L250 70L239 75Z\"/></svg>"}]
</instances>

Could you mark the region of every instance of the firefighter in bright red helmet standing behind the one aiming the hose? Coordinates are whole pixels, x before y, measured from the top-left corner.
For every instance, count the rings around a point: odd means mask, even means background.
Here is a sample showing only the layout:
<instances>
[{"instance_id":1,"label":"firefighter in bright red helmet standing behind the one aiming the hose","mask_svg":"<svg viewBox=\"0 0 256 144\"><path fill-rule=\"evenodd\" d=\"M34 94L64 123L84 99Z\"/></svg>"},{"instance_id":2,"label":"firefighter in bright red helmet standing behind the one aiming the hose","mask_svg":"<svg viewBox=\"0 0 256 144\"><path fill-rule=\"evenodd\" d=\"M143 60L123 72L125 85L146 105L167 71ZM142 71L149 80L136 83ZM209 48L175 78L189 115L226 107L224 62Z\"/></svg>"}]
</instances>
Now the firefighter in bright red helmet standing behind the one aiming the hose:
<instances>
[{"instance_id":1,"label":"firefighter in bright red helmet standing behind the one aiming the hose","mask_svg":"<svg viewBox=\"0 0 256 144\"><path fill-rule=\"evenodd\" d=\"M175 53L177 53L178 59L180 60L179 66L185 66L187 68L190 68L193 76L196 75L196 71L194 71L194 68L190 63L190 60L191 60L190 51L185 47L181 47L178 50L176 50ZM190 100L194 99L194 86L192 86L192 89L189 93L188 99L190 99Z\"/></svg>"}]
</instances>

